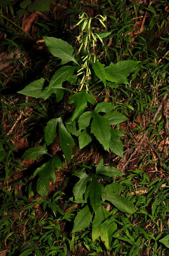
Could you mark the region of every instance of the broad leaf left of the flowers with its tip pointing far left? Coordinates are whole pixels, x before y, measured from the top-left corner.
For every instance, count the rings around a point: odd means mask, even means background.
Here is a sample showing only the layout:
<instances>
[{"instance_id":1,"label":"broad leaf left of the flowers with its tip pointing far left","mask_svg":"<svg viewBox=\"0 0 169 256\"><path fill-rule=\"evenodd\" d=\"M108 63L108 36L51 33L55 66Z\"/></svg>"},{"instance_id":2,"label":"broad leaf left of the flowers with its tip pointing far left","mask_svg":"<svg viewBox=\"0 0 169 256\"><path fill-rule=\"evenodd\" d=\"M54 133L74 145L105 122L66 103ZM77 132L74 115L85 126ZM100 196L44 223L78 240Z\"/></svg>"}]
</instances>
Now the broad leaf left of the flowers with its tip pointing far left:
<instances>
[{"instance_id":1,"label":"broad leaf left of the flowers with its tip pointing far left","mask_svg":"<svg viewBox=\"0 0 169 256\"><path fill-rule=\"evenodd\" d=\"M49 83L44 78L40 78L39 80L35 80L34 82L28 84L23 90L19 91L18 93L35 98L43 98L46 100L52 93L58 92L55 88L48 91L48 86Z\"/></svg>"}]
</instances>

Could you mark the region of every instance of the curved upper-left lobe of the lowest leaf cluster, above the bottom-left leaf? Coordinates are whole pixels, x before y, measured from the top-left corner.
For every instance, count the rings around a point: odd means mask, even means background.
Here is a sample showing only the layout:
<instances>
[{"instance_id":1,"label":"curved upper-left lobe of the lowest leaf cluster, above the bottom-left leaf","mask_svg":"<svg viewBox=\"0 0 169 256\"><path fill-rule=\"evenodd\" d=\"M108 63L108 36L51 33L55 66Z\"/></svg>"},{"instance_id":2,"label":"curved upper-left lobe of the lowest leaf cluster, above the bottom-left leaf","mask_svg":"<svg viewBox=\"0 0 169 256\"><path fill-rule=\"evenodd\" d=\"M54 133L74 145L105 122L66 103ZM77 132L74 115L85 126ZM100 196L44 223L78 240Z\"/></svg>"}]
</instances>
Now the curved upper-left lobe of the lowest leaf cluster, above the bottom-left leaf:
<instances>
[{"instance_id":1,"label":"curved upper-left lobe of the lowest leaf cluster, above the bottom-left leaf","mask_svg":"<svg viewBox=\"0 0 169 256\"><path fill-rule=\"evenodd\" d=\"M73 188L74 201L76 203L84 203L83 194L86 191L87 182L90 177L84 172L76 172L73 175L80 178Z\"/></svg>"}]
</instances>

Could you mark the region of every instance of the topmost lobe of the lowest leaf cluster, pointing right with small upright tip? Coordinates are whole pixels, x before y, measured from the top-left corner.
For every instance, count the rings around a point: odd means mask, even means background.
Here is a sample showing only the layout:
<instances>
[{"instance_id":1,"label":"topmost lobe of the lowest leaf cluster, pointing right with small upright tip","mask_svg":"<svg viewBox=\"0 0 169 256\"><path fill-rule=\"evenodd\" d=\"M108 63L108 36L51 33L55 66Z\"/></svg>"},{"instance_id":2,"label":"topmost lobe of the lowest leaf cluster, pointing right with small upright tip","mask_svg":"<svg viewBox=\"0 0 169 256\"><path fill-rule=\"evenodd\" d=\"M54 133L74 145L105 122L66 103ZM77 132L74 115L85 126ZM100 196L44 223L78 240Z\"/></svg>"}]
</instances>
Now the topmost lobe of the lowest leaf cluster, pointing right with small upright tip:
<instances>
[{"instance_id":1,"label":"topmost lobe of the lowest leaf cluster, pointing right with small upright tip","mask_svg":"<svg viewBox=\"0 0 169 256\"><path fill-rule=\"evenodd\" d=\"M119 171L113 166L104 166L103 165L103 158L99 161L96 167L96 174L102 174L109 177L117 177L124 175L123 172Z\"/></svg>"}]
</instances>

